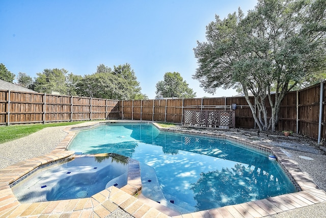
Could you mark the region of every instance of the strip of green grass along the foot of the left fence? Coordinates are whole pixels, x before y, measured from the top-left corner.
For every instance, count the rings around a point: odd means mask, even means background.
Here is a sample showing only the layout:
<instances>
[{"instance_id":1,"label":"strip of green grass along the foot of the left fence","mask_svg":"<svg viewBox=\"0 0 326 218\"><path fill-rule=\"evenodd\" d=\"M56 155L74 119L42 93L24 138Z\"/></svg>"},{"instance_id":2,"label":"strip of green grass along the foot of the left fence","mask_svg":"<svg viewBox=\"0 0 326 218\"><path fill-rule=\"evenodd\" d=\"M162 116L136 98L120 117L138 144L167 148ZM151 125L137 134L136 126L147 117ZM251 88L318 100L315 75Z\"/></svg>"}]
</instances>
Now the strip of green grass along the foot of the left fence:
<instances>
[{"instance_id":1,"label":"strip of green grass along the foot of the left fence","mask_svg":"<svg viewBox=\"0 0 326 218\"><path fill-rule=\"evenodd\" d=\"M80 124L85 122L87 121L0 126L0 135L1 135L0 144L17 138L25 137L39 130L42 130L46 127L68 126L68 125Z\"/></svg>"}]
</instances>

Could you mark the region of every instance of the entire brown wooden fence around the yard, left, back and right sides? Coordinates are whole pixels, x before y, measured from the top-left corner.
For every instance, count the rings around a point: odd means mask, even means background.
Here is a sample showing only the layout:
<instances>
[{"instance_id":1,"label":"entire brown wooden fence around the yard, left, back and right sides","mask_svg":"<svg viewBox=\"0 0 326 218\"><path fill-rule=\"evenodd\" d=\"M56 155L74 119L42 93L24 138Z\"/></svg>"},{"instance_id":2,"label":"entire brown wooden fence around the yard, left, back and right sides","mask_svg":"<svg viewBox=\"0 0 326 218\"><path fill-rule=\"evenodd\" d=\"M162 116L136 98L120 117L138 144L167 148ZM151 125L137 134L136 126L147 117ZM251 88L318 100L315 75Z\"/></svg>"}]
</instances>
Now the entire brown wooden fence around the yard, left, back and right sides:
<instances>
[{"instance_id":1,"label":"entire brown wooden fence around the yard, left, back and right sides","mask_svg":"<svg viewBox=\"0 0 326 218\"><path fill-rule=\"evenodd\" d=\"M325 139L325 98L325 81L300 91L289 92L282 101L277 130L292 130L318 141ZM255 105L253 97L250 97L250 101ZM270 116L268 103L266 107ZM232 127L256 127L252 112L242 96L118 101L0 90L0 125L105 118L184 124L185 111L230 111L232 108Z\"/></svg>"}]
</instances>

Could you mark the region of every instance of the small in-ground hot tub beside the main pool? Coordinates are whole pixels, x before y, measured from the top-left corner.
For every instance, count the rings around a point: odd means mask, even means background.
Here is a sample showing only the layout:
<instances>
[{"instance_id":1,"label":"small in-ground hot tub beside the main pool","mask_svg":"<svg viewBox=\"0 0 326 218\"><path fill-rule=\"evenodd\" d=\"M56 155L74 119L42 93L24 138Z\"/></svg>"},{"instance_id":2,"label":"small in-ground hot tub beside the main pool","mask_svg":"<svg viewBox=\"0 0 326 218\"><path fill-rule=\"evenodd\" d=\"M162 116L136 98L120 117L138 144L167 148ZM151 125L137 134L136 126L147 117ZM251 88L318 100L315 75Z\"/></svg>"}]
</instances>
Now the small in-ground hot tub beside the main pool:
<instances>
[{"instance_id":1,"label":"small in-ground hot tub beside the main pool","mask_svg":"<svg viewBox=\"0 0 326 218\"><path fill-rule=\"evenodd\" d=\"M35 203L89 198L110 186L123 187L129 158L114 156L75 155L47 164L12 184L12 191L20 203Z\"/></svg>"}]
</instances>

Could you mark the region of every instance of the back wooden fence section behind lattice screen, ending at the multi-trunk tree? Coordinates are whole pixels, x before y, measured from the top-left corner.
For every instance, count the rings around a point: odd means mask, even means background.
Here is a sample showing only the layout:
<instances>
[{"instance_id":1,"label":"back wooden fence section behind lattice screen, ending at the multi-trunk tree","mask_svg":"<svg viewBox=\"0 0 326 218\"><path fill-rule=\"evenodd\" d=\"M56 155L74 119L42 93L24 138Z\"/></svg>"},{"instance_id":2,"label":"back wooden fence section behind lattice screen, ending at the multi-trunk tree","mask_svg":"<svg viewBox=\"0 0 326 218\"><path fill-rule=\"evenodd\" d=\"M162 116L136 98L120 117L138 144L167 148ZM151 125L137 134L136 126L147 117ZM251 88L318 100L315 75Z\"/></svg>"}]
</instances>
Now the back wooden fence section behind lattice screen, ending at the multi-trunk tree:
<instances>
[{"instance_id":1,"label":"back wooden fence section behind lattice screen, ending at the multi-trunk tree","mask_svg":"<svg viewBox=\"0 0 326 218\"><path fill-rule=\"evenodd\" d=\"M251 99L254 104L254 99ZM251 110L243 97L239 98L204 98L204 99L155 99L155 100L129 100L120 102L122 119L152 120L183 124L185 111L217 111L210 112L218 116L219 111L231 111L232 105L239 110L232 112L232 125L230 127L254 127ZM192 113L192 112L187 112ZM202 112L197 112L198 114ZM206 112L203 112L205 116ZM228 113L228 112L227 112ZM233 115L234 114L234 115ZM199 115L197 115L199 116ZM194 122L195 119L192 120ZM203 123L204 121L202 121ZM207 120L208 123L212 122ZM205 123L205 122L204 122ZM211 125L208 124L207 125ZM216 123L217 124L217 123ZM237 125L238 124L238 125ZM204 124L200 124L201 126ZM215 124L213 126L216 126ZM220 126L220 125L219 125ZM221 125L222 126L222 125ZM229 125L227 125L229 126Z\"/></svg>"}]
</instances>

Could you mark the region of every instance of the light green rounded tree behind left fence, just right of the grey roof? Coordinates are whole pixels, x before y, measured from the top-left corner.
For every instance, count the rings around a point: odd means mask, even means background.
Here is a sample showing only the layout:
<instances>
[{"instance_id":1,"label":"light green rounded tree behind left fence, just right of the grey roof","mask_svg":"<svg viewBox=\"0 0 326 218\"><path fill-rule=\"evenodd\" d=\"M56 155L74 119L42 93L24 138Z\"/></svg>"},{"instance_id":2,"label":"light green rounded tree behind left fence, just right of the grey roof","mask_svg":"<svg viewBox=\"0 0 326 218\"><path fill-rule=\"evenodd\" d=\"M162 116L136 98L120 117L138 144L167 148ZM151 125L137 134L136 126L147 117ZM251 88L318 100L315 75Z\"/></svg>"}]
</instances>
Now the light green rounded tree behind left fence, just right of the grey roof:
<instances>
[{"instance_id":1,"label":"light green rounded tree behind left fence, just right of the grey roof","mask_svg":"<svg viewBox=\"0 0 326 218\"><path fill-rule=\"evenodd\" d=\"M38 76L34 82L34 91L51 93L52 91L60 92L61 94L68 94L66 85L66 74L68 70L65 69L44 69L43 72L38 72Z\"/></svg>"}]
</instances>

